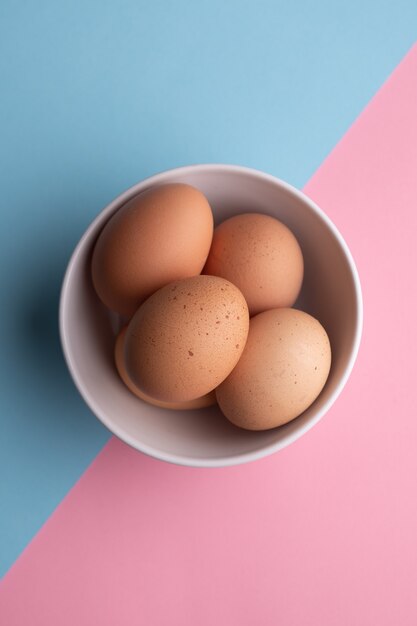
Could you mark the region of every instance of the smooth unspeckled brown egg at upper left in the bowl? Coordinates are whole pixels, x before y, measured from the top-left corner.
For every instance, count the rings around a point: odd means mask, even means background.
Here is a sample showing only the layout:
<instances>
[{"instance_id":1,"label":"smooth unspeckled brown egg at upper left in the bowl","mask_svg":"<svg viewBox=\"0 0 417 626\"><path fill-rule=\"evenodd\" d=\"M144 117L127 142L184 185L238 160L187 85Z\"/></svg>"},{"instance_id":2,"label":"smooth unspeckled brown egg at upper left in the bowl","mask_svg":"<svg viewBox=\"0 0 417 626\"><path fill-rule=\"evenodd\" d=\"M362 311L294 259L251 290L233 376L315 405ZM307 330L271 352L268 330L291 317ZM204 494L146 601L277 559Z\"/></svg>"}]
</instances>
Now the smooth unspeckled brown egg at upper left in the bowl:
<instances>
[{"instance_id":1,"label":"smooth unspeckled brown egg at upper left in the bowl","mask_svg":"<svg viewBox=\"0 0 417 626\"><path fill-rule=\"evenodd\" d=\"M96 292L111 310L132 316L164 285L203 269L213 236L205 196L180 183L143 191L103 228L93 252Z\"/></svg>"}]
</instances>

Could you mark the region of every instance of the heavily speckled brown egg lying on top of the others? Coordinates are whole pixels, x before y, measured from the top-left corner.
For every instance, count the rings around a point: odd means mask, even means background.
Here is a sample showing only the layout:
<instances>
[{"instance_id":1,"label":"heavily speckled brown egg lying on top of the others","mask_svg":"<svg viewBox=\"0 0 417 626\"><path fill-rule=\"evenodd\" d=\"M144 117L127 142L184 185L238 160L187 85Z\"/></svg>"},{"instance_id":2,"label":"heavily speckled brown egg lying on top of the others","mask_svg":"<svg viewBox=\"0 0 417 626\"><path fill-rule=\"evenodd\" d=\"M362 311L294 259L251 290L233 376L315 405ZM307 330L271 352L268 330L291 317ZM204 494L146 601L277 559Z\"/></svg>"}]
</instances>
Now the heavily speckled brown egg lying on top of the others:
<instances>
[{"instance_id":1,"label":"heavily speckled brown egg lying on top of the others","mask_svg":"<svg viewBox=\"0 0 417 626\"><path fill-rule=\"evenodd\" d=\"M221 383L246 343L249 313L241 292L217 276L176 281L154 293L129 323L129 378L165 402L204 396Z\"/></svg>"}]
</instances>

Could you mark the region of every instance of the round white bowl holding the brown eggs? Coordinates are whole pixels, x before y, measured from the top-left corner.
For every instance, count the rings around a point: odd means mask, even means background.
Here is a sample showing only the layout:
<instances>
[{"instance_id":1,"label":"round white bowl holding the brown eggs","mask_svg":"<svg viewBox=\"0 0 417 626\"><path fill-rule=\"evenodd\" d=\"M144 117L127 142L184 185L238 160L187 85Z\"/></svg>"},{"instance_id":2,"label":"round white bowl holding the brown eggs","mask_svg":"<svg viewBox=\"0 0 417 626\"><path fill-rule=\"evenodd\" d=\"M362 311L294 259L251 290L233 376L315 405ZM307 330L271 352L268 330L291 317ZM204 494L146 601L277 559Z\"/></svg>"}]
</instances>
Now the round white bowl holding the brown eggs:
<instances>
[{"instance_id":1,"label":"round white bowl holding the brown eggs","mask_svg":"<svg viewBox=\"0 0 417 626\"><path fill-rule=\"evenodd\" d=\"M316 317L332 346L332 366L316 401L279 428L249 432L233 426L217 406L169 411L136 398L114 365L115 336L122 320L109 313L91 281L92 250L104 224L132 196L161 183L198 187L215 222L244 212L283 221L304 254L305 276L295 307ZM260 171L232 165L192 165L134 185L89 226L70 259L60 301L60 334L72 378L84 400L117 437L148 455L182 465L221 467L246 463L288 446L330 409L356 359L362 332L362 296L352 255L336 227L301 191Z\"/></svg>"}]
</instances>

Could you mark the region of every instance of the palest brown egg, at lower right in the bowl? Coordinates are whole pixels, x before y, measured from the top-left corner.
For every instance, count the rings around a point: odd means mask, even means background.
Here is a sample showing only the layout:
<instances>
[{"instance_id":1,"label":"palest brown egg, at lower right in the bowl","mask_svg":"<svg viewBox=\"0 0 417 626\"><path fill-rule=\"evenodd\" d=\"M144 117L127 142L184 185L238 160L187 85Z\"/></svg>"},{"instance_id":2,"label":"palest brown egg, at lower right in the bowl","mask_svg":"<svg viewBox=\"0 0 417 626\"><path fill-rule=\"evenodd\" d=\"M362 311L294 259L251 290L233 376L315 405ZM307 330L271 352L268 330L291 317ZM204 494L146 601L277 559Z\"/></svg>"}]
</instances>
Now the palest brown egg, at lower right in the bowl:
<instances>
[{"instance_id":1,"label":"palest brown egg, at lower right in the bowl","mask_svg":"<svg viewBox=\"0 0 417 626\"><path fill-rule=\"evenodd\" d=\"M296 309L265 311L251 319L245 350L217 388L217 402L241 428L281 426L314 402L330 363L329 338L314 317Z\"/></svg>"}]
</instances>

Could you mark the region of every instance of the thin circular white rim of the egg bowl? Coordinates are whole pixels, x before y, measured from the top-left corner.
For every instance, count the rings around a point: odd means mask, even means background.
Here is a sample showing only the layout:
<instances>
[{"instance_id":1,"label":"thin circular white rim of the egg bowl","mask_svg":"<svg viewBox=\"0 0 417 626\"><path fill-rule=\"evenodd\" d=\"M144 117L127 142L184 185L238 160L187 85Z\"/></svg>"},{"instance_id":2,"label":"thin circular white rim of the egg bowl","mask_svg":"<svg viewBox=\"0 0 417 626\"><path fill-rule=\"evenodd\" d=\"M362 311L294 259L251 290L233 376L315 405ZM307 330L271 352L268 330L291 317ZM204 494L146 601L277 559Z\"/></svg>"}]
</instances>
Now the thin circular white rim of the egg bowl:
<instances>
[{"instance_id":1,"label":"thin circular white rim of the egg bowl","mask_svg":"<svg viewBox=\"0 0 417 626\"><path fill-rule=\"evenodd\" d=\"M127 202L131 197L140 192L143 188L146 188L150 184L155 183L163 183L165 179L171 179L174 175L184 175L187 173L195 173L195 172L215 172L216 170L221 172L231 172L236 174L242 174L246 177L253 177L258 180L263 180L265 182L272 183L283 188L287 193L296 196L297 199L303 201L304 203L309 205L309 208L316 214L316 216L321 219L328 229L331 231L334 238L337 240L340 248L342 249L343 254L345 255L347 264L349 266L349 270L352 275L353 284L354 284L354 292L356 296L356 325L355 325L355 335L353 340L353 345L351 348L351 352L349 355L349 359L345 370L340 377L335 389L327 399L327 401L323 404L320 410L312 416L308 422L304 423L300 426L299 429L295 430L293 433L287 435L280 441L270 443L268 445L262 446L259 449L256 449L251 452L243 452L237 453L235 455L222 455L219 457L213 458L200 458L193 457L189 455L180 455L171 452L166 452L155 448L153 446L144 444L142 442L136 441L133 437L130 437L128 433L126 433L122 428L119 428L118 424L114 423L111 418L109 418L104 412L100 410L97 406L95 398L86 390L81 377L78 374L77 367L75 366L72 357L71 357L71 348L70 348L70 340L68 336L67 330L67 319L66 319L66 311L67 311L67 299L68 299L68 286L71 279L72 272L74 271L78 256L83 249L85 243L91 237L92 231L96 228L97 224L103 220L107 215L111 215L117 207L122 206L125 202ZM107 204L94 218L94 220L89 224L89 226L84 231L82 237L78 241L77 245L74 248L74 251L71 254L70 260L68 262L67 268L65 270L64 279L62 282L61 293L60 293L60 301L59 301L59 333L61 339L61 346L64 354L65 361L67 363L69 372L71 377L77 387L81 397L86 402L87 406L93 412L93 414L102 422L102 424L115 436L119 439L127 443L132 448L143 452L144 454L151 456L153 458L159 459L161 461L166 461L169 463L173 463L175 465L184 465L188 467L226 467L233 465L240 465L243 463L248 463L251 461L255 461L261 458L264 458L274 452L278 452L283 448L286 448L288 445L302 437L305 433L307 433L315 424L317 424L322 417L327 413L327 411L331 408L334 402L337 400L339 395L341 394L343 388L345 387L349 376L352 372L353 366L355 364L359 346L362 338L362 330L363 330L363 297L362 297L362 289L361 283L359 279L359 274L356 268L355 261L353 256L345 242L344 238L331 221L331 219L324 213L322 209L311 199L309 198L303 191L300 191L296 187L293 187L289 183L284 180L273 176L272 174L267 174L261 170L257 170L250 167L245 167L241 165L230 165L230 164L222 164L222 163L202 163L195 165L186 165L183 167L176 167L169 170L163 170L159 173L153 174L152 176L148 176L143 180L135 183L127 190L116 196L109 204Z\"/></svg>"}]
</instances>

